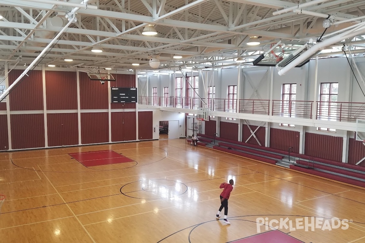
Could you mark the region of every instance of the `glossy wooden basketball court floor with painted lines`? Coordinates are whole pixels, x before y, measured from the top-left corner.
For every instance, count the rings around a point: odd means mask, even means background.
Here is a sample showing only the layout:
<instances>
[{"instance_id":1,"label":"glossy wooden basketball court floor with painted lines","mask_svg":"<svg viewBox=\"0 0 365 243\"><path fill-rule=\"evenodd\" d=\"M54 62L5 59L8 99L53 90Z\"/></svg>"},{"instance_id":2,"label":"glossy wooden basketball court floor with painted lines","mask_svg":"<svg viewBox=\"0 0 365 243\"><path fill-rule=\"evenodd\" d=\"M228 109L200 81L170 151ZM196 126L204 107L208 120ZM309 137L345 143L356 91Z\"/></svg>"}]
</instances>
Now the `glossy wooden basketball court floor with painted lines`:
<instances>
[{"instance_id":1,"label":"glossy wooden basketball court floor with painted lines","mask_svg":"<svg viewBox=\"0 0 365 243\"><path fill-rule=\"evenodd\" d=\"M134 161L86 167L69 155L101 150ZM215 215L230 179L226 225ZM365 242L365 190L184 139L0 153L0 194L4 243Z\"/></svg>"}]
</instances>

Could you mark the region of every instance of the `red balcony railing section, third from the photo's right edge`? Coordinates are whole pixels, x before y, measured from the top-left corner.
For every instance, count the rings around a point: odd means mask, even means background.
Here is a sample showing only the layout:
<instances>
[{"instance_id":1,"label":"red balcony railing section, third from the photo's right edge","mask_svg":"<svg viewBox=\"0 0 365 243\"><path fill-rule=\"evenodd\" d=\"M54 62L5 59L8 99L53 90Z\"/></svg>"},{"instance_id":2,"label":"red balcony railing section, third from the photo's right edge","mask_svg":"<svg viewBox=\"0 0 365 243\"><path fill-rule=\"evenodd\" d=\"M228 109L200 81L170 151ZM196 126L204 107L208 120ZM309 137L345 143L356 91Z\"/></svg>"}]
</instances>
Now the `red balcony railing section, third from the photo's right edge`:
<instances>
[{"instance_id":1,"label":"red balcony railing section, third from the photo's right edge","mask_svg":"<svg viewBox=\"0 0 365 243\"><path fill-rule=\"evenodd\" d=\"M239 113L270 114L270 100L268 99L239 99Z\"/></svg>"}]
</instances>

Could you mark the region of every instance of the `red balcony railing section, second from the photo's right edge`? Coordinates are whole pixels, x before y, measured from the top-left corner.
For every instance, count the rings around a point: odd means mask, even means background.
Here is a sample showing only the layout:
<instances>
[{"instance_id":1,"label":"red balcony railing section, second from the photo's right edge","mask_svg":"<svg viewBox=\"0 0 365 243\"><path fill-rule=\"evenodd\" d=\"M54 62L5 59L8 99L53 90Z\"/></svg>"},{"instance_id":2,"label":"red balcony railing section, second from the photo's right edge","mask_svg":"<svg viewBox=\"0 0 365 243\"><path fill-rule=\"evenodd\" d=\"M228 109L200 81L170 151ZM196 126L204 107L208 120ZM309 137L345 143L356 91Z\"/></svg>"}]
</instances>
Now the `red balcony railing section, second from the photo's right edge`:
<instances>
[{"instance_id":1,"label":"red balcony railing section, second from the photo's right edge","mask_svg":"<svg viewBox=\"0 0 365 243\"><path fill-rule=\"evenodd\" d=\"M273 100L272 115L312 119L313 101Z\"/></svg>"}]
</instances>

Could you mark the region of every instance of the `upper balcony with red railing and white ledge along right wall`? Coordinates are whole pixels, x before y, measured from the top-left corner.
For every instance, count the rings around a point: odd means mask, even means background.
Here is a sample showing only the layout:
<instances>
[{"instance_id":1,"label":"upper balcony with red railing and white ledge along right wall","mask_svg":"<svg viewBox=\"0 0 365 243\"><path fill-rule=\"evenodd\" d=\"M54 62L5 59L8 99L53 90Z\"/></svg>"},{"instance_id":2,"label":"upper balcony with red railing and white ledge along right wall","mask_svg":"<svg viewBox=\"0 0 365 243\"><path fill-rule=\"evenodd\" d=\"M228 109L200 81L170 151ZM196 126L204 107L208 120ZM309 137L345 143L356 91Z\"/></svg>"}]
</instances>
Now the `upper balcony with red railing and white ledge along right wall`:
<instances>
[{"instance_id":1,"label":"upper balcony with red railing and white ledge along right wall","mask_svg":"<svg viewBox=\"0 0 365 243\"><path fill-rule=\"evenodd\" d=\"M192 114L208 107L212 116L349 131L356 131L356 119L365 119L365 103L360 102L208 99L205 104L199 98L139 96L138 103Z\"/></svg>"}]
</instances>

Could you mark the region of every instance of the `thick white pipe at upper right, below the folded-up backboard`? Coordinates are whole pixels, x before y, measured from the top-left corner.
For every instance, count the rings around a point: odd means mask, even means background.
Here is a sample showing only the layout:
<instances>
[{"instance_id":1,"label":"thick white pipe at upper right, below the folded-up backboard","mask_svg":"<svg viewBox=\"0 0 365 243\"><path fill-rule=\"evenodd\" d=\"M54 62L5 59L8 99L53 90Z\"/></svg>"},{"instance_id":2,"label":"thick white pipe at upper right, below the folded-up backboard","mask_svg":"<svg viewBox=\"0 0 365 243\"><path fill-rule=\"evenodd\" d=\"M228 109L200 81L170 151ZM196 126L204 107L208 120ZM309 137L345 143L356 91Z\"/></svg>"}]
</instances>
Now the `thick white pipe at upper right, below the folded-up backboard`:
<instances>
[{"instance_id":1,"label":"thick white pipe at upper right, below the folded-up backboard","mask_svg":"<svg viewBox=\"0 0 365 243\"><path fill-rule=\"evenodd\" d=\"M365 33L365 23L362 23L360 26L354 28L353 30L346 31L342 34L339 34L327 40L323 40L322 42L319 42L314 46L312 46L309 50L305 51L302 55L294 59L287 66L281 68L281 70L278 71L278 74L280 76L285 75L293 67L297 66L301 62L304 62L305 60L308 60L309 58L311 58L312 55L314 55L317 51L323 49L324 47L341 42L342 40L347 38L352 38L357 35L362 35L364 33Z\"/></svg>"}]
</instances>

